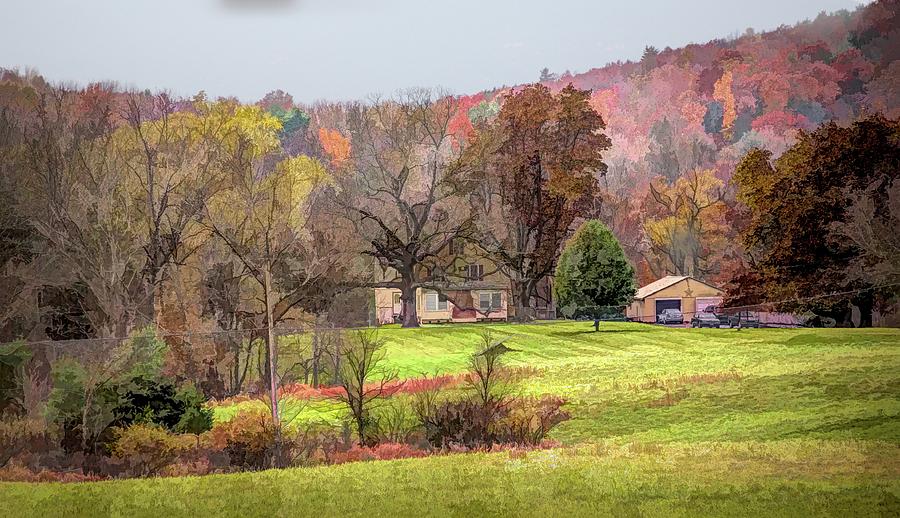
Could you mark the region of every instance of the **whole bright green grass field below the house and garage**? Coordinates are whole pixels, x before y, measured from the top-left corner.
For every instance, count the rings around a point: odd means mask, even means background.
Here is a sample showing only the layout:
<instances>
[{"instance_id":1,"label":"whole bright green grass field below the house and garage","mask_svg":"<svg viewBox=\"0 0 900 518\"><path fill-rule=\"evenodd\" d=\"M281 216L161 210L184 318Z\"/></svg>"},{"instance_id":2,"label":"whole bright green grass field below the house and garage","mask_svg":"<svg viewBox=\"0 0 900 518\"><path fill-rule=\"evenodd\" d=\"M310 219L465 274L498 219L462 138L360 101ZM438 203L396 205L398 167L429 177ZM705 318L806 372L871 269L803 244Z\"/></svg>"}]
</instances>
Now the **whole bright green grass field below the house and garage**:
<instances>
[{"instance_id":1,"label":"whole bright green grass field below the house and garage","mask_svg":"<svg viewBox=\"0 0 900 518\"><path fill-rule=\"evenodd\" d=\"M0 515L900 513L900 331L491 327L519 350L509 363L535 373L516 393L569 401L572 419L551 434L562 447L524 457L0 484ZM381 337L390 365L417 377L465 370L480 330L384 329Z\"/></svg>"}]
</instances>

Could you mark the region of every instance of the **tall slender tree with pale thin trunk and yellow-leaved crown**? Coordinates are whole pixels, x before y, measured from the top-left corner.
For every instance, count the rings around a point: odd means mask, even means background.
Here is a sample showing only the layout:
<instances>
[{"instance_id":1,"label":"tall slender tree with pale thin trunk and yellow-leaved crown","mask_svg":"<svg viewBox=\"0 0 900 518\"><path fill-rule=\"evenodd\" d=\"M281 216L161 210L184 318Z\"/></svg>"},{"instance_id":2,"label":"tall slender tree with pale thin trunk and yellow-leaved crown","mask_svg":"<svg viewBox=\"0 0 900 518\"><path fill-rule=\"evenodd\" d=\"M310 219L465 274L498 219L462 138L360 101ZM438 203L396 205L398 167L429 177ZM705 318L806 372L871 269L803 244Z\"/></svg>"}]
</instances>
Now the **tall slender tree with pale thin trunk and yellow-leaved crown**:
<instances>
[{"instance_id":1,"label":"tall slender tree with pale thin trunk and yellow-leaved crown","mask_svg":"<svg viewBox=\"0 0 900 518\"><path fill-rule=\"evenodd\" d=\"M228 115L211 106L212 117L222 117L225 128L220 142L220 167L225 171L221 190L207 204L207 221L262 288L266 314L266 377L269 382L272 422L280 431L277 399L277 350L274 325L276 299L272 271L289 268L286 260L300 255L309 240L306 222L310 198L317 186L328 181L322 164L308 156L278 160L281 122L258 107L237 107ZM272 162L275 162L272 166ZM280 437L280 435L278 436ZM276 438L276 449L280 439ZM278 457L277 455L275 456Z\"/></svg>"}]
</instances>

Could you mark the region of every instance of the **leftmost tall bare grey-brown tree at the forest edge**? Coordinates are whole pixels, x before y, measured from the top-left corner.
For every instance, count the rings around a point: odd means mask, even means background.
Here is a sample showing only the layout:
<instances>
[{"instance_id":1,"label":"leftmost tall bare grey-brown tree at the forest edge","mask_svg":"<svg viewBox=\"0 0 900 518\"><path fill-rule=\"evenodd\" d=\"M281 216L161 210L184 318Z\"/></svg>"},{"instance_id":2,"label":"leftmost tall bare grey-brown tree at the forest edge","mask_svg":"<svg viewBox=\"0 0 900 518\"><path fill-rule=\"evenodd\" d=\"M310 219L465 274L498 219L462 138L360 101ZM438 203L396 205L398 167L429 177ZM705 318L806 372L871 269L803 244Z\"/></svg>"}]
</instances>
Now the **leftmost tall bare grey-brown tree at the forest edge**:
<instances>
[{"instance_id":1,"label":"leftmost tall bare grey-brown tree at the forest edge","mask_svg":"<svg viewBox=\"0 0 900 518\"><path fill-rule=\"evenodd\" d=\"M111 92L96 93L89 103L62 88L41 93L26 130L21 207L48 245L42 261L55 282L82 286L94 332L121 337L150 321L141 313L145 241L115 153L115 104Z\"/></svg>"}]
</instances>

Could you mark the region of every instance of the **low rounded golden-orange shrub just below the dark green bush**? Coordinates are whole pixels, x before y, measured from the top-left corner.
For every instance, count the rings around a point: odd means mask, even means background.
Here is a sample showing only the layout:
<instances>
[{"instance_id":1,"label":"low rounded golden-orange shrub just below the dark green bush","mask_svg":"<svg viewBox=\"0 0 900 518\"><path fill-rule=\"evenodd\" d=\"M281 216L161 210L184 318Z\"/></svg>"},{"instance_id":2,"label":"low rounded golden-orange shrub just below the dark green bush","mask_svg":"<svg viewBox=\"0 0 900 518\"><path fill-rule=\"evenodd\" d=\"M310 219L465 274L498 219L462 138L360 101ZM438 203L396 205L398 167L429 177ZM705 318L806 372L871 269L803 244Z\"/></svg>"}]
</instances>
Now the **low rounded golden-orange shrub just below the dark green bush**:
<instances>
[{"instance_id":1,"label":"low rounded golden-orange shrub just below the dark green bush","mask_svg":"<svg viewBox=\"0 0 900 518\"><path fill-rule=\"evenodd\" d=\"M117 429L115 437L113 455L125 461L131 474L142 477L158 474L191 446L186 437L150 424Z\"/></svg>"}]
</instances>

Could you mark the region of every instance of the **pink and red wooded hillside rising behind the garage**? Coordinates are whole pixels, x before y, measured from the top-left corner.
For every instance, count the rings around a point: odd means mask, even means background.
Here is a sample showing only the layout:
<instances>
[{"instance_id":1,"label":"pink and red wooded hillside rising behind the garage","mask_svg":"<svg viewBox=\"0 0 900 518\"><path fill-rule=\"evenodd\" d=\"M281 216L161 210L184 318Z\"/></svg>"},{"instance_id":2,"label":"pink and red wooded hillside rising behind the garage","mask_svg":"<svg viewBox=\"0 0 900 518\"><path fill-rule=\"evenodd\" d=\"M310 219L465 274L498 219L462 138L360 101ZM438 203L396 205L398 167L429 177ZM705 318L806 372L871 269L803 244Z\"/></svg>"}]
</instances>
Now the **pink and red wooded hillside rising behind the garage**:
<instances>
[{"instance_id":1,"label":"pink and red wooded hillside rising behind the garage","mask_svg":"<svg viewBox=\"0 0 900 518\"><path fill-rule=\"evenodd\" d=\"M572 83L592 91L613 142L604 154L604 219L639 264L641 282L666 273L731 278L740 267L731 242L741 223L730 180L750 149L777 157L799 130L872 112L900 115L898 5L821 13L683 48L648 47L640 62L580 74L542 73L553 90ZM507 91L465 97L469 116L457 119L459 133L495 113ZM679 214L679 195L704 207L696 223Z\"/></svg>"}]
</instances>

